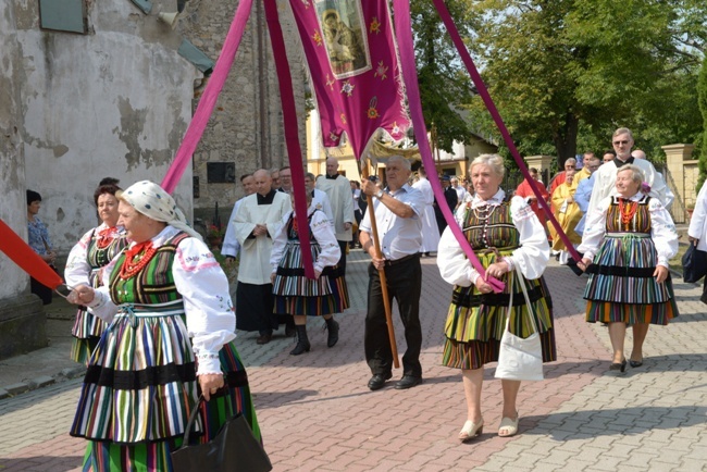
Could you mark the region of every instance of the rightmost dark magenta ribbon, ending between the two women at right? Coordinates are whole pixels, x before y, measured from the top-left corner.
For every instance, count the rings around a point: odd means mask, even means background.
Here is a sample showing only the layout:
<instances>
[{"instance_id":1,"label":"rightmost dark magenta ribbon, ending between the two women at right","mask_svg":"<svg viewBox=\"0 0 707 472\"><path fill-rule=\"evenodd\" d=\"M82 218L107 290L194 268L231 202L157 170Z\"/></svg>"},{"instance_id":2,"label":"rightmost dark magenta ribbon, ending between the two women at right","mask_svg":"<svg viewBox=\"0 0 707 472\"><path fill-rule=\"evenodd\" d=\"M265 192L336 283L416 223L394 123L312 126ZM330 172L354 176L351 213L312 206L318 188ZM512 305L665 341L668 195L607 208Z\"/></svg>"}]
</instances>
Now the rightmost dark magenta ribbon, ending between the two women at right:
<instances>
[{"instance_id":1,"label":"rightmost dark magenta ribbon, ending between the two women at right","mask_svg":"<svg viewBox=\"0 0 707 472\"><path fill-rule=\"evenodd\" d=\"M399 1L399 0L398 0ZM396 2L397 3L397 2ZM528 167L525 166L525 162L523 159L520 157L520 153L518 152L518 149L516 148L516 145L513 144L513 139L510 137L510 133L508 132L508 128L506 127L506 124L504 123L504 120L500 117L500 113L498 113L498 109L496 109L496 105L494 103L494 100L492 100L491 95L488 94L488 90L486 89L486 85L481 78L481 74L479 74L479 71L476 70L476 66L474 65L474 61L471 59L471 55L469 54L469 51L467 51L467 47L464 46L463 41L461 40L461 36L459 36L459 32L457 30L457 27L455 26L454 21L451 20L451 15L449 15L449 11L447 10L447 5L445 5L443 0L433 0L434 5L437 8L437 12L439 13L439 17L442 17L443 23L447 27L447 30L449 32L449 36L451 37L452 42L457 47L457 51L459 51L459 55L461 57L461 60L463 61L464 65L467 66L467 71L469 72L469 75L471 76L472 80L474 82L474 85L476 86L476 89L479 90L479 95L481 98L484 100L484 104L486 104L486 108L488 109L488 112L494 119L494 122L496 123L496 126L498 127L498 131L500 132L501 136L504 137L504 141L506 142L506 146L508 146L508 149L510 150L511 156L513 157L513 160L518 164L518 167L520 169L521 173L523 174L523 177L528 181L530 184L531 189L533 190L533 194L537 197L537 202L539 206L543 208L545 213L547 214L547 219L553 223L553 226L555 226L555 229L557 231L558 236L560 239L562 239L562 243L565 244L565 247L570 251L572 254L572 258L580 262L582 258L580 258L580 253L574 249L574 246L572 246L572 243L570 239L567 237L562 228L560 227L560 224L558 221L555 219L555 215L550 211L549 206L543 198L539 188L537 188L537 185L535 185L535 181L533 177L531 177ZM446 218L446 214L445 214ZM447 220L449 222L449 220Z\"/></svg>"}]
</instances>

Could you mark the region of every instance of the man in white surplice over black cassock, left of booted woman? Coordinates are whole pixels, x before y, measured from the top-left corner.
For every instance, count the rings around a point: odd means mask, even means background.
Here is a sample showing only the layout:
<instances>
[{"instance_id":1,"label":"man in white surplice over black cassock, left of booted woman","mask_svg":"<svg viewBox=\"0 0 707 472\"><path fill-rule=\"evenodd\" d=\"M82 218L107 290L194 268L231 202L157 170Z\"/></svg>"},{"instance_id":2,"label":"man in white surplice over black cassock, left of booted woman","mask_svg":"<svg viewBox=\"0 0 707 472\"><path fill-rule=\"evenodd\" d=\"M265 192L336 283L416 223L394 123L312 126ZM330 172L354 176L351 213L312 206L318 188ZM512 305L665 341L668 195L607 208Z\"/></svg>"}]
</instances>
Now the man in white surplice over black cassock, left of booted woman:
<instances>
[{"instance_id":1,"label":"man in white surplice over black cassock, left of booted woman","mask_svg":"<svg viewBox=\"0 0 707 472\"><path fill-rule=\"evenodd\" d=\"M273 330L280 325L277 315L273 313L270 254L273 238L283 218L292 210L292 204L287 194L272 188L268 171L261 169L252 175L257 192L244 198L234 219L236 238L240 244L236 328L258 331L258 344L268 344L272 339ZM294 323L288 327L294 334Z\"/></svg>"}]
</instances>

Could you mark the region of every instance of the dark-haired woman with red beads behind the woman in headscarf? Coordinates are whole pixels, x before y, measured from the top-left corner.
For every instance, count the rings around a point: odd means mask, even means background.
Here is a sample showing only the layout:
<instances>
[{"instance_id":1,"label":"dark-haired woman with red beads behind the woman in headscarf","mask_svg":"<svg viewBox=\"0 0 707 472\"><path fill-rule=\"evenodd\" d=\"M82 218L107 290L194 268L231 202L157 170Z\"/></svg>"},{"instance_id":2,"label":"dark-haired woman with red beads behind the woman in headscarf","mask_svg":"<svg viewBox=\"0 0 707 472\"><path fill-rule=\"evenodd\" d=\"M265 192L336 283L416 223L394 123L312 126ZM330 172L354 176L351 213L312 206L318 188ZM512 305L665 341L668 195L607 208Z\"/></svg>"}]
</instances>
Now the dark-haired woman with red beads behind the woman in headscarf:
<instances>
[{"instance_id":1,"label":"dark-haired woman with red beads behind the woman in headscarf","mask_svg":"<svg viewBox=\"0 0 707 472\"><path fill-rule=\"evenodd\" d=\"M125 231L117 226L116 196L121 191L120 187L111 184L100 185L94 192L94 202L102 223L88 231L69 252L64 278L70 287L80 284L100 287L101 268L127 246ZM71 332L74 336L71 359L87 363L107 326L103 320L94 316L86 307L78 307Z\"/></svg>"}]
</instances>

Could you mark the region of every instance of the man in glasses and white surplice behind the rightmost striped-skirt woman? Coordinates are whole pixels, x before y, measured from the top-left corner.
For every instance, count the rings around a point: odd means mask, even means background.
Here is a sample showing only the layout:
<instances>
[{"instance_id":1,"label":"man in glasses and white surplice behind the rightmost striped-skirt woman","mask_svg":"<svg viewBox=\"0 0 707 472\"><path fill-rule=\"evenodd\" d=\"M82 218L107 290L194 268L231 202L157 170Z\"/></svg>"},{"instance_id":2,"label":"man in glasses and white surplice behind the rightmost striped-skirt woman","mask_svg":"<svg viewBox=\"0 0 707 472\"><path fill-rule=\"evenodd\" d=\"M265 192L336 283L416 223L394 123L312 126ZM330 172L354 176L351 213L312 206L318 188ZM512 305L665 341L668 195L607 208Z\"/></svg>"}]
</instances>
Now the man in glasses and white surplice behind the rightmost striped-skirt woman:
<instances>
[{"instance_id":1,"label":"man in glasses and white surplice behind the rightmost striped-skirt woman","mask_svg":"<svg viewBox=\"0 0 707 472\"><path fill-rule=\"evenodd\" d=\"M596 179L594 188L592 189L592 198L587 214L592 214L601 200L611 195L616 186L616 176L619 167L624 164L634 164L645 176L645 182L650 186L650 196L657 198L663 206L668 206L671 201L666 198L666 182L662 176L656 172L656 169L650 162L645 159L634 159L631 157L631 148L633 147L633 135L629 128L618 128L613 132L612 145L616 151L613 161L608 162L599 167L594 173Z\"/></svg>"}]
</instances>

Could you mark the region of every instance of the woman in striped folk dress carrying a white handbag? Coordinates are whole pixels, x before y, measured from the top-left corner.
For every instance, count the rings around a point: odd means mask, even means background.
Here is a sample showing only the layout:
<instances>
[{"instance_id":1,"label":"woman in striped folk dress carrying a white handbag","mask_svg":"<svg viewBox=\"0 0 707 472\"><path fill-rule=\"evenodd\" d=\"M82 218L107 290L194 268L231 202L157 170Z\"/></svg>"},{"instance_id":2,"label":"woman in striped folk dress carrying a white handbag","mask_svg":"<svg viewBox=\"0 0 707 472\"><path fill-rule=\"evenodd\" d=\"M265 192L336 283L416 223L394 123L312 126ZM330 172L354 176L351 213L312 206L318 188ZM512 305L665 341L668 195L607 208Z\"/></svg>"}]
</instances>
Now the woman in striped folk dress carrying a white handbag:
<instances>
[{"instance_id":1,"label":"woman in striped folk dress carrying a white handbag","mask_svg":"<svg viewBox=\"0 0 707 472\"><path fill-rule=\"evenodd\" d=\"M525 338L533 334L521 284L525 285L531 299L543 361L556 359L553 301L542 276L549 258L547 238L525 200L521 197L508 200L499 188L504 172L504 160L497 154L474 159L470 177L475 195L460 206L456 214L486 275L506 284L504 291L494 294L492 286L471 265L450 228L442 235L437 253L442 278L454 285L442 361L449 368L461 369L467 400L467 422L459 432L462 442L473 439L483 431L484 364L498 360L507 316L510 315L510 331L516 336ZM522 277L517 276L516 266ZM511 293L513 307L509 313ZM520 382L501 380L501 387L504 409L498 435L508 437L518 433L516 399Z\"/></svg>"}]
</instances>

